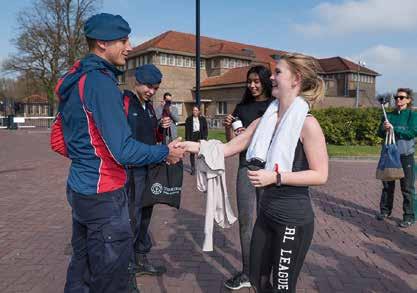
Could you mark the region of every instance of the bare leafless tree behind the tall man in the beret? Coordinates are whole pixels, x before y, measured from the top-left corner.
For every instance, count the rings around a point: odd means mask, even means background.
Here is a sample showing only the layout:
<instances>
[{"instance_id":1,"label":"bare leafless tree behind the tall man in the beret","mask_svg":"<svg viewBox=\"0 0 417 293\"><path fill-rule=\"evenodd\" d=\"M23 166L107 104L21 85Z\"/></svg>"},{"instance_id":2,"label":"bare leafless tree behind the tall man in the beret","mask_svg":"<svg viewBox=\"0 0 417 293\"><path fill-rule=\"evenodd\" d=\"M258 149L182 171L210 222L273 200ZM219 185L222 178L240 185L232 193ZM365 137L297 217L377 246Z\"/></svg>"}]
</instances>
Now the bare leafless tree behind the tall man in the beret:
<instances>
[{"instance_id":1,"label":"bare leafless tree behind the tall man in the beret","mask_svg":"<svg viewBox=\"0 0 417 293\"><path fill-rule=\"evenodd\" d=\"M54 105L59 77L87 52L83 25L99 2L35 0L31 9L18 15L18 34L13 40L18 53L3 63L3 69L38 80Z\"/></svg>"}]
</instances>

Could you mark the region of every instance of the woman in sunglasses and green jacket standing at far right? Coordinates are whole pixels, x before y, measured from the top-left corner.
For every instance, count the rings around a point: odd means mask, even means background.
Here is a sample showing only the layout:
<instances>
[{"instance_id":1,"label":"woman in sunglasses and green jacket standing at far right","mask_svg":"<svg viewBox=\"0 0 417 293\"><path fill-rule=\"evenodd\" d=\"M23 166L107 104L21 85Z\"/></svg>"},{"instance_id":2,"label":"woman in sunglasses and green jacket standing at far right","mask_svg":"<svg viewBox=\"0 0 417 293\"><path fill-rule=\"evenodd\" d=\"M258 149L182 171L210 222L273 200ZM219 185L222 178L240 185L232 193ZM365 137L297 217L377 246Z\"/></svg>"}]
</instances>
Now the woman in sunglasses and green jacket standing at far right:
<instances>
[{"instance_id":1,"label":"woman in sunglasses and green jacket standing at far right","mask_svg":"<svg viewBox=\"0 0 417 293\"><path fill-rule=\"evenodd\" d=\"M402 228L408 228L415 222L415 174L414 174L414 138L417 136L417 114L411 109L413 103L412 91L408 88L399 88L395 96L396 109L387 113L388 121L382 121L378 135L385 137L387 131L394 131L404 178L400 179L403 194L403 220L399 223ZM377 219L382 221L389 217L394 202L395 181L382 181L382 194L380 213Z\"/></svg>"}]
</instances>

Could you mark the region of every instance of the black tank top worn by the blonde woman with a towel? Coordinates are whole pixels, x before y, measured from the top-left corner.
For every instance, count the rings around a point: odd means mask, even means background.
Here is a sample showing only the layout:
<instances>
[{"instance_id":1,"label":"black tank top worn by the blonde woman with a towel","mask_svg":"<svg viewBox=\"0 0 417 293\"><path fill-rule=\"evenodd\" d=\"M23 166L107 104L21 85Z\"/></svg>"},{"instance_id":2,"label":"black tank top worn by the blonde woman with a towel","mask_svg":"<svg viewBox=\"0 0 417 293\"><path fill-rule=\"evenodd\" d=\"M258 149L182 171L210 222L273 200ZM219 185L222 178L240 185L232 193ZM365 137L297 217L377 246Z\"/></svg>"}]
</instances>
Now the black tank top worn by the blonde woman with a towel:
<instances>
[{"instance_id":1,"label":"black tank top worn by the blonde woman with a towel","mask_svg":"<svg viewBox=\"0 0 417 293\"><path fill-rule=\"evenodd\" d=\"M292 171L308 170L303 144L298 140ZM267 186L260 200L260 213L284 225L305 225L314 221L308 186Z\"/></svg>"}]
</instances>

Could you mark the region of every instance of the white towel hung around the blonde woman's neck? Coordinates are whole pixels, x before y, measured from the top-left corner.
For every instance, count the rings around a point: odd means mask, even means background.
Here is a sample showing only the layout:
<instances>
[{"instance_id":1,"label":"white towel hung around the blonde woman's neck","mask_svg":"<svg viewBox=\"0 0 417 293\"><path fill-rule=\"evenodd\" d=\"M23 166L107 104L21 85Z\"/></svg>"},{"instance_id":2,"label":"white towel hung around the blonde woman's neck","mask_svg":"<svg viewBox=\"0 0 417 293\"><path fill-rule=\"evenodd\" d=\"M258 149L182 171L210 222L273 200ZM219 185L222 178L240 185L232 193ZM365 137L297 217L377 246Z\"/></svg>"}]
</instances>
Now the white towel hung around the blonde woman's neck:
<instances>
[{"instance_id":1,"label":"white towel hung around the blonde woman's neck","mask_svg":"<svg viewBox=\"0 0 417 293\"><path fill-rule=\"evenodd\" d=\"M274 170L278 164L280 172L290 172L309 106L303 98L296 97L276 126L278 109L278 100L269 105L252 137L246 159L260 158L266 161L266 170Z\"/></svg>"}]
</instances>

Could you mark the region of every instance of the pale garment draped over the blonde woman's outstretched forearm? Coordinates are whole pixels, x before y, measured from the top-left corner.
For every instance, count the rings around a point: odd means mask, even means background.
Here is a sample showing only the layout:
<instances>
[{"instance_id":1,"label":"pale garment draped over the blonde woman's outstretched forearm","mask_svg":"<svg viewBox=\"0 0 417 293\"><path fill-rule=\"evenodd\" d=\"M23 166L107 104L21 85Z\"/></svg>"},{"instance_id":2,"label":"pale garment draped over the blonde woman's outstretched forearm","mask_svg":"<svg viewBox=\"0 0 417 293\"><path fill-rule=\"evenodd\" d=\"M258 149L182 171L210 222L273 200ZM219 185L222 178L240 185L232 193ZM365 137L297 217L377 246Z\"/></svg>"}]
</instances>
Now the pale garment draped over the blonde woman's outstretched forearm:
<instances>
[{"instance_id":1,"label":"pale garment draped over the blonde woman's outstretched forearm","mask_svg":"<svg viewBox=\"0 0 417 293\"><path fill-rule=\"evenodd\" d=\"M196 169L197 188L207 192L203 251L213 251L213 220L222 228L230 227L237 220L227 193L224 152L220 141L200 141Z\"/></svg>"}]
</instances>

